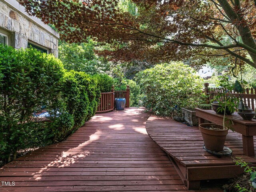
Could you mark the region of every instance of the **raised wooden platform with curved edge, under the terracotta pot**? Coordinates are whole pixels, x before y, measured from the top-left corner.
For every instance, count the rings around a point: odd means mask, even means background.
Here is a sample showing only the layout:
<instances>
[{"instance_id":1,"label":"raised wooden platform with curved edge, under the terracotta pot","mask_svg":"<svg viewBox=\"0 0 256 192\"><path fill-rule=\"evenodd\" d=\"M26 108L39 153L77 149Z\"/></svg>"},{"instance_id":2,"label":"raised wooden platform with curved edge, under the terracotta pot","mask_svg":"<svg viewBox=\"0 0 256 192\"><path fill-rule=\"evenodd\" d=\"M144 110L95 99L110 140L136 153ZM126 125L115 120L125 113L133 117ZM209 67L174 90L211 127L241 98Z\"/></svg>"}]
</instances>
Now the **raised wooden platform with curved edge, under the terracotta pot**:
<instances>
[{"instance_id":1,"label":"raised wooden platform with curved edge, under the terracotta pot","mask_svg":"<svg viewBox=\"0 0 256 192\"><path fill-rule=\"evenodd\" d=\"M234 178L242 174L243 169L235 165L233 158L241 157L256 164L255 157L243 155L242 135L236 132L229 131L225 143L233 150L233 155L219 158L203 149L204 142L197 126L190 127L172 119L151 116L146 130L171 157L189 189L199 188L200 180Z\"/></svg>"}]
</instances>

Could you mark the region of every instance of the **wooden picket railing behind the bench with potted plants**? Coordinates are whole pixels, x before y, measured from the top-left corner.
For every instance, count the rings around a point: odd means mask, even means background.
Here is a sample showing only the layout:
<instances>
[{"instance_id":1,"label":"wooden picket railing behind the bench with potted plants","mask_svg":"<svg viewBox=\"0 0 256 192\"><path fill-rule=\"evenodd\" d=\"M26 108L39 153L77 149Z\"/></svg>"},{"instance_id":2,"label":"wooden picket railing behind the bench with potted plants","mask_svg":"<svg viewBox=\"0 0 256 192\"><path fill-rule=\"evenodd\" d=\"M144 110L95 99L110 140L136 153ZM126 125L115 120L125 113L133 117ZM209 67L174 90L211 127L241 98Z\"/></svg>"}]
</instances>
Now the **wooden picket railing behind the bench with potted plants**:
<instances>
[{"instance_id":1,"label":"wooden picket railing behind the bench with potted plants","mask_svg":"<svg viewBox=\"0 0 256 192\"><path fill-rule=\"evenodd\" d=\"M207 84L205 84L205 92L209 95L209 101L217 94L223 93L226 90L223 88L208 88ZM256 88L246 88L244 93L238 93L232 90L230 92L232 96L235 97L243 97L244 104L247 104L248 107L252 108L255 111L256 108ZM223 100L223 98L222 98Z\"/></svg>"}]
</instances>

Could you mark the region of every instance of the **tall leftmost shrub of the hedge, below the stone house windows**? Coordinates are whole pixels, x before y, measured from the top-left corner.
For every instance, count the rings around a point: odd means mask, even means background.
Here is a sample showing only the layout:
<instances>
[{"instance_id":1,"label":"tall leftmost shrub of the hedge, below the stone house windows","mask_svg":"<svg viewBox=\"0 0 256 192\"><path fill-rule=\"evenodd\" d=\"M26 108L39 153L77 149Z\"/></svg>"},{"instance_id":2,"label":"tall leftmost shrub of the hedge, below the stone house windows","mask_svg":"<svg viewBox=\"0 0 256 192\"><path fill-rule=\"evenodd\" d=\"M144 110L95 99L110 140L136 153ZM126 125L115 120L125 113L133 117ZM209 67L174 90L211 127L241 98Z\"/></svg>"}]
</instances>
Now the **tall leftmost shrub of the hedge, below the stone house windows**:
<instances>
[{"instance_id":1,"label":"tall leftmost shrub of the hedge, below the stone house windows","mask_svg":"<svg viewBox=\"0 0 256 192\"><path fill-rule=\"evenodd\" d=\"M15 158L17 150L33 145L35 137L30 134L36 131L36 126L32 113L56 93L63 66L52 55L3 45L0 45L0 66L1 155L10 161L10 154Z\"/></svg>"}]
</instances>

